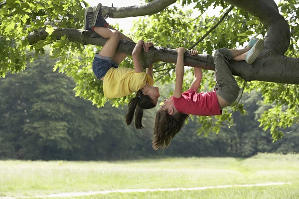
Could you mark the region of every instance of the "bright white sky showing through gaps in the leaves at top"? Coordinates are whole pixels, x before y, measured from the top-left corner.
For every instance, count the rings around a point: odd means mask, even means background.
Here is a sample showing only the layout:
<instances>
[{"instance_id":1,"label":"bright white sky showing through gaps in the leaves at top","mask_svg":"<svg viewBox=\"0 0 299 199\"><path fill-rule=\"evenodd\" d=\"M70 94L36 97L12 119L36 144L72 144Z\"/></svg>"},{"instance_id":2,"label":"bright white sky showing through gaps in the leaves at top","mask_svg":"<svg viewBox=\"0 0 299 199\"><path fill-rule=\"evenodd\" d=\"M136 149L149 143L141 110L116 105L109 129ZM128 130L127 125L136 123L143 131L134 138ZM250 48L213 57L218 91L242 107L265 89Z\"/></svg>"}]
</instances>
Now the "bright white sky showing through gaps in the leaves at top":
<instances>
[{"instance_id":1,"label":"bright white sky showing through gaps in the leaves at top","mask_svg":"<svg viewBox=\"0 0 299 199\"><path fill-rule=\"evenodd\" d=\"M86 0L90 6L96 6L99 2L102 3L102 5L105 6L111 6L113 3L114 7L126 7L130 5L139 5L141 3L144 3L143 0ZM274 0L277 4L280 0ZM191 9L193 5L186 6L186 9ZM220 15L220 8L210 8L206 11L206 13L211 16L211 15ZM199 13L193 12L194 16L197 16ZM124 30L124 33L127 34L130 32L130 29L133 26L133 20L137 20L138 17L128 17L128 18L120 18L120 19L114 19L114 18L108 18L107 22L110 24L116 24L118 23L120 28Z\"/></svg>"}]
</instances>

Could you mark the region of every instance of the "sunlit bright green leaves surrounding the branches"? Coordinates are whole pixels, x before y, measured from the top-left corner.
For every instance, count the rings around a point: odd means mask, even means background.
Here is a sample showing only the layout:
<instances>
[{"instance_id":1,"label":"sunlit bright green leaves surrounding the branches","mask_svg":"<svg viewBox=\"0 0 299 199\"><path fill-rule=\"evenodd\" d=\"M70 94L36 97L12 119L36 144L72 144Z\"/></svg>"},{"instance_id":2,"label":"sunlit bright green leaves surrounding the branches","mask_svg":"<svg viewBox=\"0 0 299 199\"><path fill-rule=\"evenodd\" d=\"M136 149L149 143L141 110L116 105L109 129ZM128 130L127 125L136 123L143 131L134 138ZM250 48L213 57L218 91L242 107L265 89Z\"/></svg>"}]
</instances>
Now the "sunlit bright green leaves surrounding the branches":
<instances>
[{"instance_id":1,"label":"sunlit bright green leaves surrounding the branches","mask_svg":"<svg viewBox=\"0 0 299 199\"><path fill-rule=\"evenodd\" d=\"M181 6L193 5L192 10L182 10ZM286 56L298 57L298 4L299 0L281 1L279 8L282 15L289 21L292 30L291 46L286 52ZM95 51L100 48L95 46L84 46L71 42L67 37L57 40L51 33L53 28L48 22L53 22L58 27L82 28L84 8L88 6L85 1L73 0L6 0L0 5L0 77L5 77L7 73L17 73L25 69L26 63L32 62L33 56L43 54L44 48L50 46L51 58L59 58L54 67L54 71L65 73L75 81L75 95L90 100L97 106L103 106L107 99L104 98L102 83L97 81L91 71L91 62ZM196 49L200 52L212 54L215 49L228 47L236 48L244 45L248 41L248 36L258 34L258 37L265 38L266 30L257 18L252 17L244 10L236 7L229 15L206 37L203 35L210 30L219 20L220 16L208 16L205 11L209 6L221 7L224 13L230 6L222 0L181 0L179 5L174 5L163 11L147 17L141 17L136 21L132 29L131 37L134 40L151 40L156 46L175 48L178 46L190 47L199 39L200 43ZM194 16L194 11L198 15ZM37 42L34 46L29 46L26 39L28 33L46 28L49 33L45 40ZM116 28L118 28L116 26ZM95 50L97 49L97 50ZM129 57L123 67L132 67L132 59ZM174 82L174 64L156 63L154 65L154 79L159 84L172 84ZM214 73L204 71L203 91L211 90L214 86ZM192 72L186 70L184 89L191 83ZM236 78L239 85L243 85L241 78ZM206 89L206 90L205 90ZM250 82L244 86L244 92L252 93L257 90L262 93L265 104L272 104L272 108L261 114L261 126L271 130L274 140L284 135L283 128L292 126L299 119L298 85L283 85L265 82ZM171 93L171 92L170 92ZM122 99L113 99L110 102L113 106L124 105L131 96ZM20 102L22 104L22 102ZM46 104L36 104L38 107ZM20 106L22 107L22 106ZM231 110L239 110L246 113L242 103L233 104L224 114L216 117L198 117L197 121L203 126L198 132L219 132L220 127L228 119L228 126L233 126ZM49 113L50 114L50 113ZM54 114L54 113L53 113ZM34 131L36 126L45 125L38 123L26 126L30 131ZM11 127L13 128L13 127ZM57 131L65 132L67 125L61 123ZM46 129L44 129L46 131ZM63 133L62 133L63 134ZM64 137L67 142L67 137Z\"/></svg>"}]
</instances>

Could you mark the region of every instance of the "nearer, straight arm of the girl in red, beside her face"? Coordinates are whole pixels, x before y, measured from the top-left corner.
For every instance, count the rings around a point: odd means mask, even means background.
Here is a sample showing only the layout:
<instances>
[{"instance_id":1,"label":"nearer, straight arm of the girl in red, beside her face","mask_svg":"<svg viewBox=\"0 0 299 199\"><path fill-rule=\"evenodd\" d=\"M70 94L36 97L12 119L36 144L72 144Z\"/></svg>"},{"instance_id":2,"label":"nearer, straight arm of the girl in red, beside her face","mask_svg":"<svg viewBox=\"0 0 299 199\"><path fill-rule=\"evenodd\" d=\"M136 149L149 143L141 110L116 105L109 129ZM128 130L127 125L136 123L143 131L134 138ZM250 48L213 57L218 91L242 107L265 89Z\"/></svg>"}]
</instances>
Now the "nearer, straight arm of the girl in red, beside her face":
<instances>
[{"instance_id":1,"label":"nearer, straight arm of the girl in red, beside her face","mask_svg":"<svg viewBox=\"0 0 299 199\"><path fill-rule=\"evenodd\" d=\"M185 48L179 47L176 48L177 60L175 67L175 87L173 92L173 97L180 98L182 96L183 90L183 79L184 79L184 53L186 52Z\"/></svg>"}]
</instances>

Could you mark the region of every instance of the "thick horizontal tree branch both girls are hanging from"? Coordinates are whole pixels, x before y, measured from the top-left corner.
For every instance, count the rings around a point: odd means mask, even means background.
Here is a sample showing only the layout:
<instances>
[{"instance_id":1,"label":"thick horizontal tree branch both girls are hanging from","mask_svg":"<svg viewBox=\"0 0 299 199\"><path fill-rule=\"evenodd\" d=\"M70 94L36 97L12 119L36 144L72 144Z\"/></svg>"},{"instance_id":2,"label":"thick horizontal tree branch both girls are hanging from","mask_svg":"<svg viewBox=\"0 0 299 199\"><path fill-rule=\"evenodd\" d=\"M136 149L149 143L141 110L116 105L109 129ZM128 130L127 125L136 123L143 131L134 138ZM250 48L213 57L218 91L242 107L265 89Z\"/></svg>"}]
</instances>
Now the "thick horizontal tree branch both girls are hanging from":
<instances>
[{"instance_id":1,"label":"thick horizontal tree branch both girls are hanging from","mask_svg":"<svg viewBox=\"0 0 299 199\"><path fill-rule=\"evenodd\" d=\"M92 44L103 46L107 39L93 31L57 28L54 27L57 39L66 35L69 41L79 42L81 44ZM45 39L48 33L45 29L31 32L28 35L29 44L32 45L39 40ZM127 40L121 40L117 51L132 55L136 43ZM163 61L176 63L177 53L174 49L165 47L151 47L149 52L142 53L143 67L147 68L152 63ZM184 55L185 66L203 68L206 70L215 70L213 57L208 54L199 54L191 56L188 52ZM259 56L253 64L247 64L245 61L230 61L233 75L239 76L246 81L265 81L299 85L299 59L286 57L277 53L267 56ZM273 66L276 66L275 70Z\"/></svg>"}]
</instances>

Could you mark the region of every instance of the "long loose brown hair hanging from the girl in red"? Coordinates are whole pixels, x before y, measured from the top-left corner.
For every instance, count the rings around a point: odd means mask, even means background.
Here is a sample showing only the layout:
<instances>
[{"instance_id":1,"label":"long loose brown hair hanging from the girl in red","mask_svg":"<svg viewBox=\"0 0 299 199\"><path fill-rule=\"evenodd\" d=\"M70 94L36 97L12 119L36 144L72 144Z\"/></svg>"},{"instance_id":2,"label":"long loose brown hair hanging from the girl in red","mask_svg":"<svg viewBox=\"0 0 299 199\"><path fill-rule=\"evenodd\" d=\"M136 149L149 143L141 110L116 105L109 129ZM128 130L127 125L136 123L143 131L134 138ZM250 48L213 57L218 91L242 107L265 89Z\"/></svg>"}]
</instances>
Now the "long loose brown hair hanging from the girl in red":
<instances>
[{"instance_id":1,"label":"long loose brown hair hanging from the girl in red","mask_svg":"<svg viewBox=\"0 0 299 199\"><path fill-rule=\"evenodd\" d=\"M167 148L171 139L184 126L188 114L177 112L169 115L168 110L157 110L153 127L152 148L155 150Z\"/></svg>"}]
</instances>

